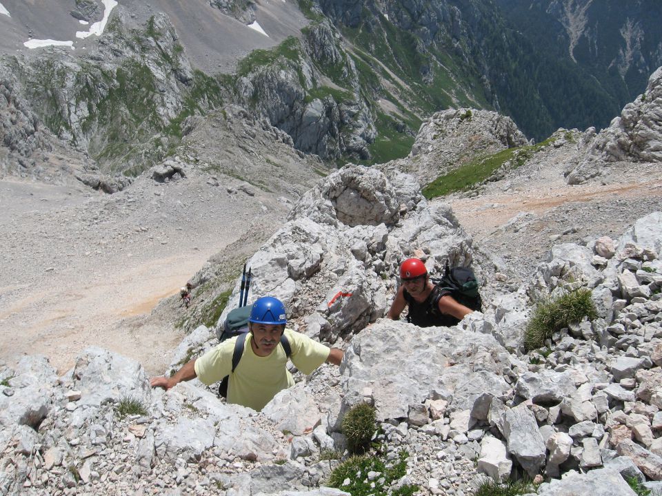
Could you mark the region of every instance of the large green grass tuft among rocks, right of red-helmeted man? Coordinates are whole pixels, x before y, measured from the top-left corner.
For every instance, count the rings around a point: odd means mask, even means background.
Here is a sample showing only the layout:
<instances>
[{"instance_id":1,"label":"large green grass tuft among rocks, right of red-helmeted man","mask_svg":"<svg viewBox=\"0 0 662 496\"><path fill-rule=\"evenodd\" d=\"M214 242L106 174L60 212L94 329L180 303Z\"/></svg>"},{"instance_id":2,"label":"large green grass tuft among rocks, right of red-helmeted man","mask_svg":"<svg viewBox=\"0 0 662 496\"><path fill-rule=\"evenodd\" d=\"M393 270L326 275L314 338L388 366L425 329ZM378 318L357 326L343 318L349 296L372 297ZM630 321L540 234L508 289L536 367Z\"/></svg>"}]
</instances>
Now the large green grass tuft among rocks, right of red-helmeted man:
<instances>
[{"instance_id":1,"label":"large green grass tuft among rocks, right of red-helmeted man","mask_svg":"<svg viewBox=\"0 0 662 496\"><path fill-rule=\"evenodd\" d=\"M545 340L551 338L554 332L584 317L588 320L598 317L591 300L590 289L579 288L557 298L540 302L526 324L525 349L530 351L542 347Z\"/></svg>"}]
</instances>

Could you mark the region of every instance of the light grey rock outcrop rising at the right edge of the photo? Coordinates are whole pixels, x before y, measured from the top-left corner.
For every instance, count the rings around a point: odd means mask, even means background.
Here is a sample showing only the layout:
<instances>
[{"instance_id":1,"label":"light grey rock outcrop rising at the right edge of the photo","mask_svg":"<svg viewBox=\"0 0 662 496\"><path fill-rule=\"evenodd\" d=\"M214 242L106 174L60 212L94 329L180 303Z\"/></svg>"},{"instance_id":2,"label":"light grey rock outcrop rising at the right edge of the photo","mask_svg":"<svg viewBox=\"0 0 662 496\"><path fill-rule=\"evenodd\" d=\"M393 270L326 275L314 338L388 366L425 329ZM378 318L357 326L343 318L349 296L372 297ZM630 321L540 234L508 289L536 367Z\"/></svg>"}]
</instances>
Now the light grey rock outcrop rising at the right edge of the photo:
<instances>
[{"instance_id":1,"label":"light grey rock outcrop rising at the right edge of the photo","mask_svg":"<svg viewBox=\"0 0 662 496\"><path fill-rule=\"evenodd\" d=\"M590 143L588 153L572 171L568 184L583 183L608 169L610 162L662 161L662 68L648 80L646 91L623 107L621 116Z\"/></svg>"}]
</instances>

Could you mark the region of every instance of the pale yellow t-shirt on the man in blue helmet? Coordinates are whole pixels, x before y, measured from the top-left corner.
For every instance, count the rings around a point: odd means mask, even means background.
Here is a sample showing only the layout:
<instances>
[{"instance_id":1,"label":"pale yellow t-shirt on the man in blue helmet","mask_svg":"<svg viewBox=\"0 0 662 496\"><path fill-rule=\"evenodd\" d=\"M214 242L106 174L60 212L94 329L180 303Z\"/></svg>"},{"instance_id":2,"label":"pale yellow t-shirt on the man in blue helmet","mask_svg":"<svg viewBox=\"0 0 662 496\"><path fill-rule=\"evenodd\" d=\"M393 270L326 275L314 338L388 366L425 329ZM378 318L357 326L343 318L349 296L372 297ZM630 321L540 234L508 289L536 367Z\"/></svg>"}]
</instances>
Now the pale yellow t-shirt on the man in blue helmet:
<instances>
[{"instance_id":1,"label":"pale yellow t-shirt on the man in blue helmet","mask_svg":"<svg viewBox=\"0 0 662 496\"><path fill-rule=\"evenodd\" d=\"M290 360L301 372L309 374L327 358L331 349L301 333L285 329L292 353ZM195 373L204 384L219 382L230 375L228 403L248 406L256 411L264 408L281 389L294 385L292 375L285 368L288 357L281 345L270 355L261 357L251 347L252 333L246 336L243 355L232 372L232 353L237 338L223 341L195 361Z\"/></svg>"}]
</instances>

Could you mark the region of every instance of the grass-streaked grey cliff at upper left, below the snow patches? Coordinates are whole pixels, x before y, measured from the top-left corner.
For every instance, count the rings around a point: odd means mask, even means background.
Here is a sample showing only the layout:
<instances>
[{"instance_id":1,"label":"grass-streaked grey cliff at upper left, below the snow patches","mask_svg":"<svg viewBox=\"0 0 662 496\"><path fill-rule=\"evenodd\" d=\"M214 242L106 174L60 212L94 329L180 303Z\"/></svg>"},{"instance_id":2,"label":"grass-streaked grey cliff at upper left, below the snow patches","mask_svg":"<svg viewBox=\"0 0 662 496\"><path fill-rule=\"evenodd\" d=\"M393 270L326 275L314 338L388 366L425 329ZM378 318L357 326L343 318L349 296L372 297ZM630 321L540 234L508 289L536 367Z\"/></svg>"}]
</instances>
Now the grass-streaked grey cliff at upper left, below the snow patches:
<instances>
[{"instance_id":1,"label":"grass-streaked grey cliff at upper left, below the snow patches","mask_svg":"<svg viewBox=\"0 0 662 496\"><path fill-rule=\"evenodd\" d=\"M219 102L218 85L194 74L165 14L154 15L142 29L129 28L123 15L113 16L83 56L38 52L0 61L0 72L12 75L3 77L5 112L22 116L5 130L6 147L23 158L37 148L49 151L42 137L48 129L96 158L102 174L144 167L165 152L168 136L181 132L177 122L163 133L175 118L192 112L185 103L190 92L201 90L195 107Z\"/></svg>"}]
</instances>

